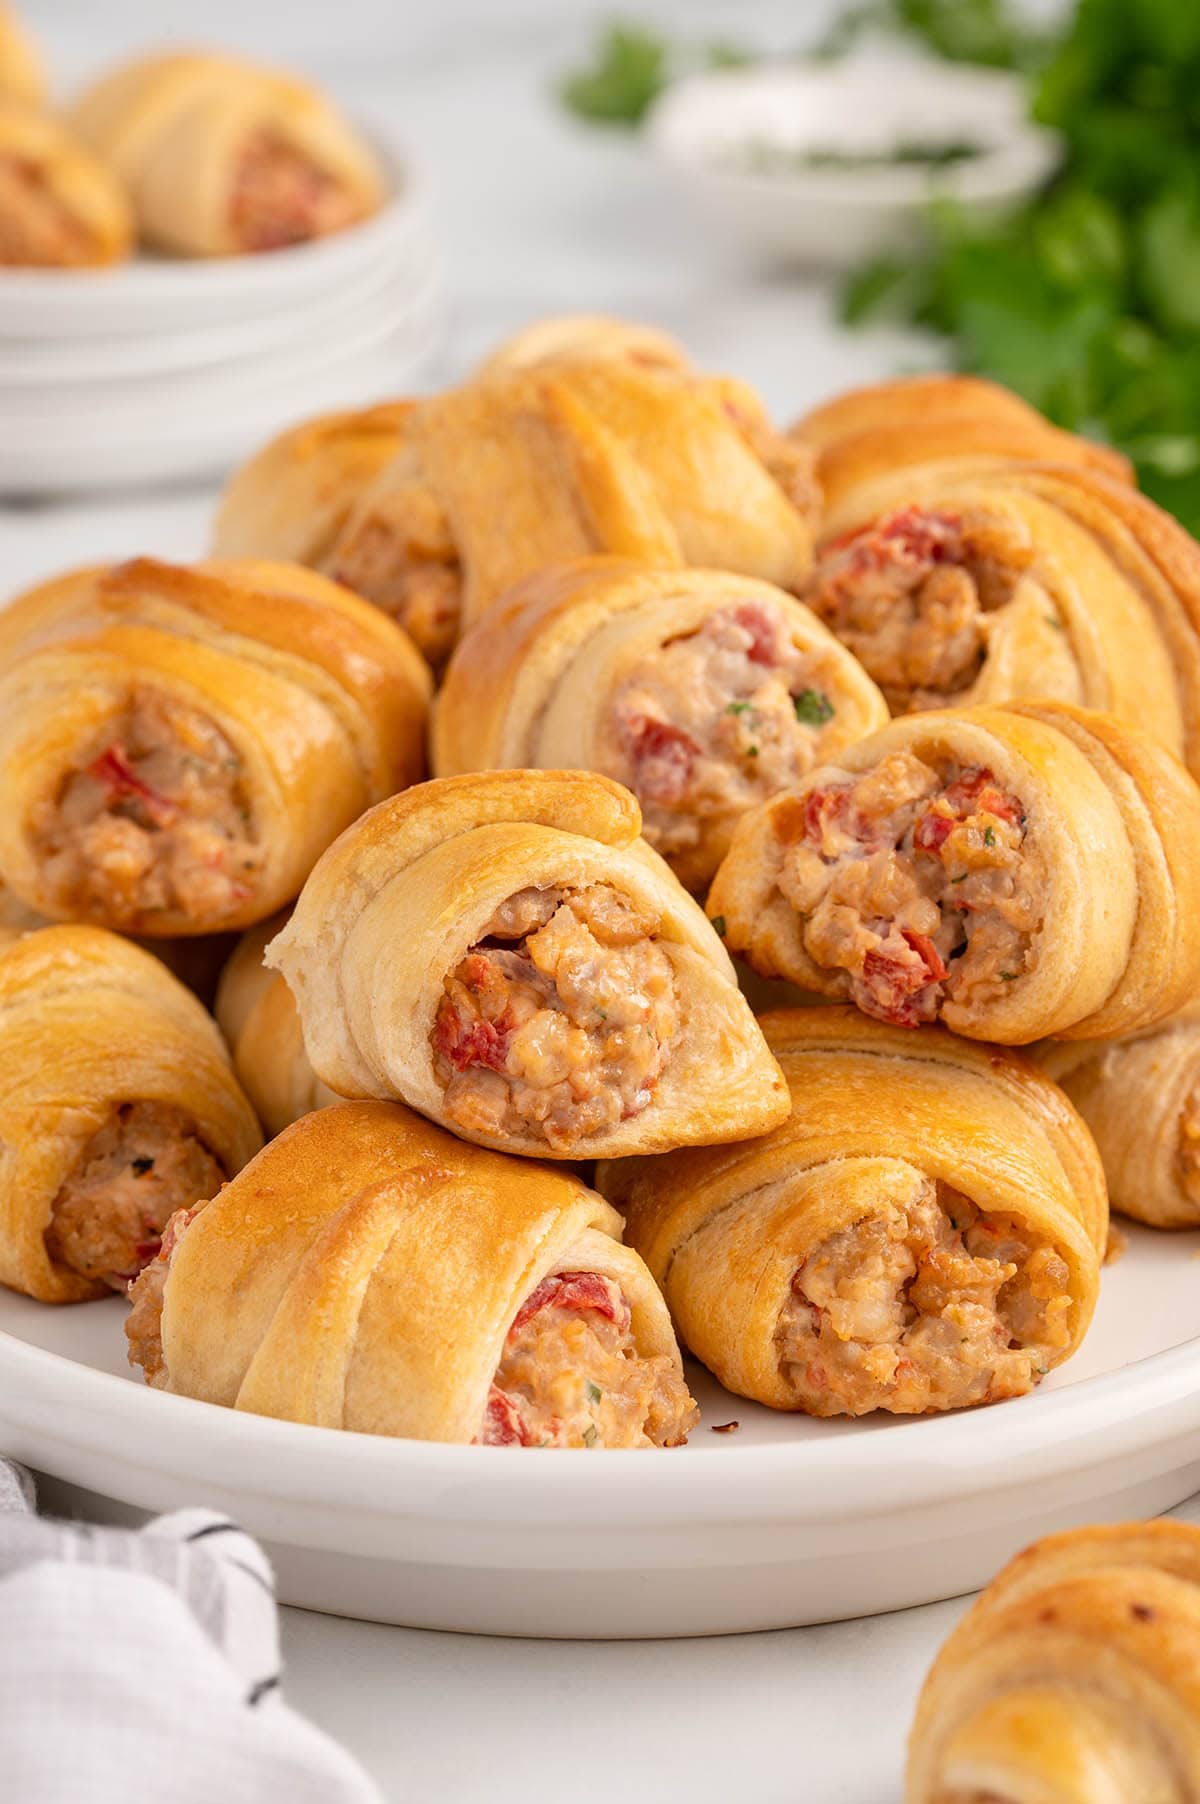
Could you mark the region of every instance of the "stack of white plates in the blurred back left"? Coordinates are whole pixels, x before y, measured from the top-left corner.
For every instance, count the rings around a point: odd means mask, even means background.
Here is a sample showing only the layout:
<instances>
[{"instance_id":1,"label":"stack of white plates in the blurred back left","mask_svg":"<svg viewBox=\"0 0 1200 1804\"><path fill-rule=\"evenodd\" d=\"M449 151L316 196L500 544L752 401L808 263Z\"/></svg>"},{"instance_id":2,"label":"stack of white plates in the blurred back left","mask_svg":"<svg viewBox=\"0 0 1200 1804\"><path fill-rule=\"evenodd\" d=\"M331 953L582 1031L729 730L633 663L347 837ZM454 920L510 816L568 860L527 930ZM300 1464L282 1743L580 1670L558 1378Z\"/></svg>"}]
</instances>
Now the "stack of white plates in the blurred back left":
<instances>
[{"instance_id":1,"label":"stack of white plates in the blurred back left","mask_svg":"<svg viewBox=\"0 0 1200 1804\"><path fill-rule=\"evenodd\" d=\"M402 395L440 327L424 182L363 226L258 256L0 269L0 494L211 478L280 428Z\"/></svg>"}]
</instances>

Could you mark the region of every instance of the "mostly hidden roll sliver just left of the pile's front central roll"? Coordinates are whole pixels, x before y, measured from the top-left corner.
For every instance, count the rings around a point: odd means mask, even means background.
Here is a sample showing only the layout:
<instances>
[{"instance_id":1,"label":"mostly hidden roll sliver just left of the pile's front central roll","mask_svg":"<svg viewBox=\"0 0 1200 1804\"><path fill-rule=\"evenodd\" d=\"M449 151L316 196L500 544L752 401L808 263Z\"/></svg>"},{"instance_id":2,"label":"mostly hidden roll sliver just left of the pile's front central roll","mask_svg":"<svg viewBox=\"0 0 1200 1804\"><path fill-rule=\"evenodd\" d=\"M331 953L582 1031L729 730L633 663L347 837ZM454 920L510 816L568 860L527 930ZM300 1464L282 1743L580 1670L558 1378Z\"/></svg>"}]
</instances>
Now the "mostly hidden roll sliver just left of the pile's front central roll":
<instances>
[{"instance_id":1,"label":"mostly hidden roll sliver just left of the pile's front central roll","mask_svg":"<svg viewBox=\"0 0 1200 1804\"><path fill-rule=\"evenodd\" d=\"M339 1099L316 1075L305 1052L296 1001L278 971L267 971L263 949L287 915L272 915L238 942L217 985L217 1021L233 1068L269 1135Z\"/></svg>"}]
</instances>

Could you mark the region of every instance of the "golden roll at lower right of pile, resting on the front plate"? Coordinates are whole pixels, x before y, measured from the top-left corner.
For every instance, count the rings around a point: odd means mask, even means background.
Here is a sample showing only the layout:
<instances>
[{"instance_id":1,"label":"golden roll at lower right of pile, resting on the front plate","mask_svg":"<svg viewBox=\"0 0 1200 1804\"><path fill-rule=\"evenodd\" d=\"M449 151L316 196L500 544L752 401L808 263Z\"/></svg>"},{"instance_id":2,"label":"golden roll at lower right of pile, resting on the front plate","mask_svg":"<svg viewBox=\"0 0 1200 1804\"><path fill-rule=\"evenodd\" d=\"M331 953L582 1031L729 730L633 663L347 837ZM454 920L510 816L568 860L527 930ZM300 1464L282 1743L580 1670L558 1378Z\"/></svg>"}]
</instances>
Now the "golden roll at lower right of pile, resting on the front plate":
<instances>
[{"instance_id":1,"label":"golden roll at lower right of pile, resting on the front plate","mask_svg":"<svg viewBox=\"0 0 1200 1804\"><path fill-rule=\"evenodd\" d=\"M697 1358L814 1416L998 1402L1068 1358L1108 1205L1061 1091L1014 1054L852 1008L762 1026L787 1122L597 1169Z\"/></svg>"}]
</instances>

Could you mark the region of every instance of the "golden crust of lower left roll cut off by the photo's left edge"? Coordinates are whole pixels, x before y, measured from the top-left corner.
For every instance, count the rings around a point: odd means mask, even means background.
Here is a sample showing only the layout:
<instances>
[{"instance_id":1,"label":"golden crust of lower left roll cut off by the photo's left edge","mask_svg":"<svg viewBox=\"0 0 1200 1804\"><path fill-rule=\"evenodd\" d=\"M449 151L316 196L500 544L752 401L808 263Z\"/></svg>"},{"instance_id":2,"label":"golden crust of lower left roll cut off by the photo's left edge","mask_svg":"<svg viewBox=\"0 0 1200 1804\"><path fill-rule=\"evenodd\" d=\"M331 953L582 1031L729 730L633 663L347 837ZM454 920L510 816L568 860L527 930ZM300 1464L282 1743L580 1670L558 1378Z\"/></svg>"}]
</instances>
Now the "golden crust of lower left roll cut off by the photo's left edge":
<instances>
[{"instance_id":1,"label":"golden crust of lower left roll cut off by the photo's left edge","mask_svg":"<svg viewBox=\"0 0 1200 1804\"><path fill-rule=\"evenodd\" d=\"M97 927L0 947L0 1283L40 1302L106 1286L51 1257L54 1198L117 1106L182 1109L233 1174L262 1137L217 1025L157 958Z\"/></svg>"}]
</instances>

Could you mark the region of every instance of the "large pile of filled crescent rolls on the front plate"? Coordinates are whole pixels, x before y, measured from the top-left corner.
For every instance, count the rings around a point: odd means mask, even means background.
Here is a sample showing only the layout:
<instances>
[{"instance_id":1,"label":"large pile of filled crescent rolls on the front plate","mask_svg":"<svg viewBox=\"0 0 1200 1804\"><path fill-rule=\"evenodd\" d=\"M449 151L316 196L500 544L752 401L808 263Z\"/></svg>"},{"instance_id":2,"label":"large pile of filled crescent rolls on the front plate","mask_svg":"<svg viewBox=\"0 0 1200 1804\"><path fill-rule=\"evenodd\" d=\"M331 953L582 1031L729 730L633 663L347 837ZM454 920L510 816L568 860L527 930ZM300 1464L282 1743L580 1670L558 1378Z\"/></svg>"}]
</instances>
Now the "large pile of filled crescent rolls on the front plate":
<instances>
[{"instance_id":1,"label":"large pile of filled crescent rolls on the front plate","mask_svg":"<svg viewBox=\"0 0 1200 1804\"><path fill-rule=\"evenodd\" d=\"M0 1281L374 1434L1029 1393L1200 1221L1198 631L978 381L572 318L289 431L0 612Z\"/></svg>"}]
</instances>

